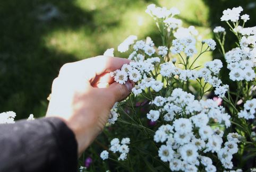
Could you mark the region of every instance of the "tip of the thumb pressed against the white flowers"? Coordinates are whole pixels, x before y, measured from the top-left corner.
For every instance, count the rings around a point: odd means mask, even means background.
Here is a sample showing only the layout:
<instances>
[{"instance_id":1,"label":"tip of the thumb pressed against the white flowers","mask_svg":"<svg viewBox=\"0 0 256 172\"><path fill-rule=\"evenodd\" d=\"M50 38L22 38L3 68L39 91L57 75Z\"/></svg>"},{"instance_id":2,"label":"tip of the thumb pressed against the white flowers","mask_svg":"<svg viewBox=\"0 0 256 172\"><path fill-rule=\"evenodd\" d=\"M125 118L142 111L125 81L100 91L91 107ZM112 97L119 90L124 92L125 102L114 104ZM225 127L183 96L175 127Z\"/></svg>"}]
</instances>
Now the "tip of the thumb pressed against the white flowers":
<instances>
[{"instance_id":1,"label":"tip of the thumb pressed against the white flowers","mask_svg":"<svg viewBox=\"0 0 256 172\"><path fill-rule=\"evenodd\" d=\"M134 87L134 82L127 81L125 84L118 84L116 82L109 85L107 88L109 90L109 93L112 94L112 97L114 97L114 101L121 101L124 100L132 91L132 88Z\"/></svg>"}]
</instances>

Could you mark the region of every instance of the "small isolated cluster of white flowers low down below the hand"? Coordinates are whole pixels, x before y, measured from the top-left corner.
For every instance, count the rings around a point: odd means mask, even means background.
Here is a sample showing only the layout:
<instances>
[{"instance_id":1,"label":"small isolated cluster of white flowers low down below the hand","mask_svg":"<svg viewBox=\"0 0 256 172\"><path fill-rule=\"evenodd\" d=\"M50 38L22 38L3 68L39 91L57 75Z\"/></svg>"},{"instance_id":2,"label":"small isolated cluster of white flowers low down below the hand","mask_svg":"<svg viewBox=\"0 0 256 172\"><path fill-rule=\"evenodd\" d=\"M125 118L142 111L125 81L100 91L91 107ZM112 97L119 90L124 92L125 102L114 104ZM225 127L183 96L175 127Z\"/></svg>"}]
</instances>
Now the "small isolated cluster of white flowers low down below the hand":
<instances>
[{"instance_id":1,"label":"small isolated cluster of white flowers low down below the hand","mask_svg":"<svg viewBox=\"0 0 256 172\"><path fill-rule=\"evenodd\" d=\"M120 157L118 158L119 160L125 160L127 158L127 153L129 153L130 149L128 147L128 144L130 144L130 138L126 137L123 138L122 141L120 142L119 139L114 138L110 142L110 148L109 150L112 151L113 153L120 152ZM100 153L100 158L105 160L108 159L108 151L104 150L103 152Z\"/></svg>"}]
</instances>

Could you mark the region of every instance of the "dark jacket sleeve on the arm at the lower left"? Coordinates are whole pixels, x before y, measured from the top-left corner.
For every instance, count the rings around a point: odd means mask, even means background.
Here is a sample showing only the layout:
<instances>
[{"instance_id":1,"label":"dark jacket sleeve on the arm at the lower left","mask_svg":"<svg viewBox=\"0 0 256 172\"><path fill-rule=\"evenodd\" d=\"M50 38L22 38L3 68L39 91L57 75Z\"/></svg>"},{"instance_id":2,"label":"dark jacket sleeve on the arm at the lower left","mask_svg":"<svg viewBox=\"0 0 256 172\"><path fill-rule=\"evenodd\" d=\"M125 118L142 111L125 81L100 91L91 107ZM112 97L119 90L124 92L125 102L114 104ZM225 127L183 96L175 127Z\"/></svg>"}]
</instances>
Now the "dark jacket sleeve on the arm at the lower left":
<instances>
[{"instance_id":1,"label":"dark jacket sleeve on the arm at the lower left","mask_svg":"<svg viewBox=\"0 0 256 172\"><path fill-rule=\"evenodd\" d=\"M0 172L77 171L77 147L59 118L0 124Z\"/></svg>"}]
</instances>

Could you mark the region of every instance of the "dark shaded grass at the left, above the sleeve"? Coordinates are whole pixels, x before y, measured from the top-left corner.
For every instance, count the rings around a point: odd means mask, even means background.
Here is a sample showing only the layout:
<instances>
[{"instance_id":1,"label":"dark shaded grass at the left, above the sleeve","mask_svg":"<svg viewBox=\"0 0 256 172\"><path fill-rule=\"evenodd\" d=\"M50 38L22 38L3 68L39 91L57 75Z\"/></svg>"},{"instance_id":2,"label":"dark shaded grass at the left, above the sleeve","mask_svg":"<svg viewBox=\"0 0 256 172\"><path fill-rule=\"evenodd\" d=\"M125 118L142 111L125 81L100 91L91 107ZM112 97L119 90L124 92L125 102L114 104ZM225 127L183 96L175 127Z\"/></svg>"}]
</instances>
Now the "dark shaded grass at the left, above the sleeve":
<instances>
[{"instance_id":1,"label":"dark shaded grass at the left, above the sleeve","mask_svg":"<svg viewBox=\"0 0 256 172\"><path fill-rule=\"evenodd\" d=\"M16 119L44 116L59 68L77 57L47 49L42 37L59 28L93 30L93 12L70 0L10 0L1 2L0 15L0 111L13 110Z\"/></svg>"}]
</instances>

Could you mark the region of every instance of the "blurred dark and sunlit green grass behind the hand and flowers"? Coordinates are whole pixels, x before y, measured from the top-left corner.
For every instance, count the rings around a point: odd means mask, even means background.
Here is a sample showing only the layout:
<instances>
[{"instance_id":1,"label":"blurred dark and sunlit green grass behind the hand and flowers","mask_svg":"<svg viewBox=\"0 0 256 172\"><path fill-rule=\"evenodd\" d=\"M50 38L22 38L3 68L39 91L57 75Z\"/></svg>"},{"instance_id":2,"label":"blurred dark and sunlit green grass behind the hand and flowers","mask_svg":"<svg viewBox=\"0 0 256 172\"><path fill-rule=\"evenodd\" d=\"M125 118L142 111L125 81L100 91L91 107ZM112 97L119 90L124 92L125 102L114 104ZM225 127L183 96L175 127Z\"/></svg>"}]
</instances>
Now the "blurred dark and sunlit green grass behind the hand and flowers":
<instances>
[{"instance_id":1,"label":"blurred dark and sunlit green grass behind the hand and flowers","mask_svg":"<svg viewBox=\"0 0 256 172\"><path fill-rule=\"evenodd\" d=\"M13 110L16 119L46 113L51 84L67 62L101 55L127 36L160 38L147 5L180 9L183 26L194 25L202 38L220 22L222 11L241 5L255 25L255 1L250 0L8 0L0 2L0 111ZM235 37L227 35L228 48ZM127 57L115 51L116 56ZM214 54L220 58L218 51ZM211 55L201 62L209 60Z\"/></svg>"}]
</instances>

